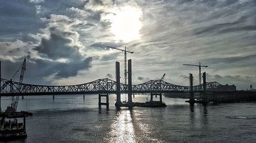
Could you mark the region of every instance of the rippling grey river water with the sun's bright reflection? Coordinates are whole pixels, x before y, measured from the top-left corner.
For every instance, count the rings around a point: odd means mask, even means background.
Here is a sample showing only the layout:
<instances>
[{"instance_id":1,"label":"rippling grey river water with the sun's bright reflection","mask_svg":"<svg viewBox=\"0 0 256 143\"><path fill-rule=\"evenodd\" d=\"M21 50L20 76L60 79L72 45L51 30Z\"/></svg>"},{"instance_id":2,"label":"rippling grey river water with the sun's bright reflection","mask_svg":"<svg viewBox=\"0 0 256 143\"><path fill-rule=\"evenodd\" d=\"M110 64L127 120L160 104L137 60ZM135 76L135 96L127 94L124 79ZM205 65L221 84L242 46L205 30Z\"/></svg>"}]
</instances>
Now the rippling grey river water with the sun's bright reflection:
<instances>
[{"instance_id":1,"label":"rippling grey river water with the sun's bright reflection","mask_svg":"<svg viewBox=\"0 0 256 143\"><path fill-rule=\"evenodd\" d=\"M147 95L135 95L145 102ZM30 111L26 139L8 142L255 142L256 104L190 106L163 97L167 107L98 107L98 95L30 96L17 110ZM125 98L122 96L122 99ZM154 100L159 100L155 98ZM2 110L10 103L2 98ZM103 98L102 98L102 101Z\"/></svg>"}]
</instances>

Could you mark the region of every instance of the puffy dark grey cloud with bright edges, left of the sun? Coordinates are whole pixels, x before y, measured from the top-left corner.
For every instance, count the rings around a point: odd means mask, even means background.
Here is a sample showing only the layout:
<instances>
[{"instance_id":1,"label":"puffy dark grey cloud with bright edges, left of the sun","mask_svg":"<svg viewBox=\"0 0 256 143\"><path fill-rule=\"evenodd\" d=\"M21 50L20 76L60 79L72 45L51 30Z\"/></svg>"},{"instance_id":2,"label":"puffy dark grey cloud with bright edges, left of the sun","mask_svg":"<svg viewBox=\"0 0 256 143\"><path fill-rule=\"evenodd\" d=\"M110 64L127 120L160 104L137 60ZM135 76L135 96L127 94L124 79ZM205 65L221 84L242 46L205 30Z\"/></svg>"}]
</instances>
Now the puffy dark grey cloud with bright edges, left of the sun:
<instances>
[{"instance_id":1,"label":"puffy dark grey cloud with bright edges, left of the sun","mask_svg":"<svg viewBox=\"0 0 256 143\"><path fill-rule=\"evenodd\" d=\"M67 17L56 16L56 19L53 17L54 22L61 21L62 25L70 25L73 22ZM81 69L91 67L92 57L86 58L81 55L80 47L74 43L79 37L78 33L68 29L61 31L58 25L50 26L49 31L51 33L49 39L42 38L40 45L35 46L34 50L40 57L50 60L31 59L35 62L34 66L43 68L38 71L38 76L53 76L55 79L68 78L76 76Z\"/></svg>"}]
</instances>

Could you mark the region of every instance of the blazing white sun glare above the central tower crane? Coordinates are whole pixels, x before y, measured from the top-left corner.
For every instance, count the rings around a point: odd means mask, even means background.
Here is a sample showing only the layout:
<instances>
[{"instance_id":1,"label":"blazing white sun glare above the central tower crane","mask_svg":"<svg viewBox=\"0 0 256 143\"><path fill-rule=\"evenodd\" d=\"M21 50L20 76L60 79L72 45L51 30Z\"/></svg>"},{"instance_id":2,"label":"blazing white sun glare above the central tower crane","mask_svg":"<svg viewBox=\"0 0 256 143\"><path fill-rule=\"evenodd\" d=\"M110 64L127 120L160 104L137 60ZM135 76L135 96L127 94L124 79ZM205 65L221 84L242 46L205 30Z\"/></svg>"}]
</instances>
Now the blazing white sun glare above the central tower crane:
<instances>
[{"instance_id":1,"label":"blazing white sun glare above the central tower crane","mask_svg":"<svg viewBox=\"0 0 256 143\"><path fill-rule=\"evenodd\" d=\"M122 7L115 11L112 18L111 32L117 41L133 41L140 39L142 11L132 6Z\"/></svg>"}]
</instances>

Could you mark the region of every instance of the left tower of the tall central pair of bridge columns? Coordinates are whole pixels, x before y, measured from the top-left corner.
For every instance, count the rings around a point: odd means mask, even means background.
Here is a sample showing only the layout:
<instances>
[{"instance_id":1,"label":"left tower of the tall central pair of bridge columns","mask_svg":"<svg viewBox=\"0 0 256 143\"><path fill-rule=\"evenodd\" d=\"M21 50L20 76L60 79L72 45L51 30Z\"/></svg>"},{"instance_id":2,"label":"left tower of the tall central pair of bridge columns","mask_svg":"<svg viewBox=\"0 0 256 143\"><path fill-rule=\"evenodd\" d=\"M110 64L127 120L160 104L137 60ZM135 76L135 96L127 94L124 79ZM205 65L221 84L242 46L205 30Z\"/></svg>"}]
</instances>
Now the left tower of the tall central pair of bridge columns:
<instances>
[{"instance_id":1,"label":"left tower of the tall central pair of bridge columns","mask_svg":"<svg viewBox=\"0 0 256 143\"><path fill-rule=\"evenodd\" d=\"M116 103L115 106L120 107L121 102L121 92L120 92L120 63L116 62Z\"/></svg>"}]
</instances>

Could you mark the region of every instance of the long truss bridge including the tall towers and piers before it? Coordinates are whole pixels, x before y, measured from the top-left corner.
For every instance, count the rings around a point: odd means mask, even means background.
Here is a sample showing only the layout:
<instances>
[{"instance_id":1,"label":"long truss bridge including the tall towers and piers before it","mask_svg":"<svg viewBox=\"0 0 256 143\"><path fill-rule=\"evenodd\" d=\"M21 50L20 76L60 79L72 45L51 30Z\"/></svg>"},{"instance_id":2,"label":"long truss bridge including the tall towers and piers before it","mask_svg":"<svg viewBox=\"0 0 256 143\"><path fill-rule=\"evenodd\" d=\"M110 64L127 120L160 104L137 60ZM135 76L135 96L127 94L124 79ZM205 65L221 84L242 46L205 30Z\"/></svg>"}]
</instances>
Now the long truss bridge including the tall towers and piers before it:
<instances>
[{"instance_id":1,"label":"long truss bridge including the tall towers and piers before it","mask_svg":"<svg viewBox=\"0 0 256 143\"><path fill-rule=\"evenodd\" d=\"M1 69L0 69L1 71ZM190 102L195 102L194 93L201 92L203 101L208 102L206 91L214 91L221 85L218 82L206 82L206 74L203 74L203 84L193 86L193 75L189 74L190 86L175 85L163 80L150 80L141 84L132 84L132 60L128 60L128 84L120 83L120 63L116 62L116 81L105 78L98 79L92 82L77 84L77 85L35 85L25 84L21 82L14 82L12 80L0 79L0 98L1 97L17 97L17 96L41 96L41 95L54 95L56 94L99 94L99 105L109 106L109 94L115 93L117 95L116 106L133 107L136 103L132 102L133 93L151 93L151 106L165 106L162 103L162 93L168 92L189 92ZM0 74L1 75L1 74ZM121 93L128 94L127 103L121 102ZM153 94L160 96L159 102L153 102ZM106 97L106 103L101 103L101 97ZM17 98L18 99L18 98ZM1 101L0 101L1 102ZM158 103L157 105L155 103ZM144 106L145 104L138 104ZM148 104L147 104L148 105Z\"/></svg>"}]
</instances>

